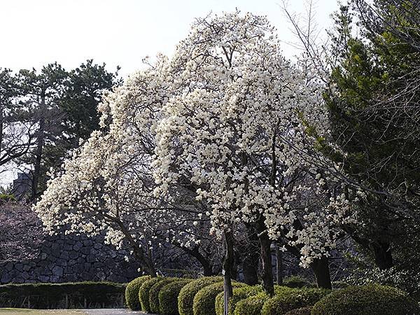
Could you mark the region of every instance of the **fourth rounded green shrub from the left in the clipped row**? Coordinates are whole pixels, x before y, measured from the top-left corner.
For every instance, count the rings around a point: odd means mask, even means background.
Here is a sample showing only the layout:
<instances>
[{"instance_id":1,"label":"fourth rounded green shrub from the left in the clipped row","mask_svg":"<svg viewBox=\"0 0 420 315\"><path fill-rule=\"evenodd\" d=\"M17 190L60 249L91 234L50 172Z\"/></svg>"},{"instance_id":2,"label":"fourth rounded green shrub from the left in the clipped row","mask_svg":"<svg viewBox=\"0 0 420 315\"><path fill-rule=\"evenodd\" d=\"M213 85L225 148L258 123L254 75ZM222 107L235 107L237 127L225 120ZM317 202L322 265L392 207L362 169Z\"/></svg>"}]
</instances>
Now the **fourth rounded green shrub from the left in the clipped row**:
<instances>
[{"instance_id":1,"label":"fourth rounded green shrub from the left in the clipped row","mask_svg":"<svg viewBox=\"0 0 420 315\"><path fill-rule=\"evenodd\" d=\"M159 291L159 311L161 315L179 315L178 295L191 280L179 280L163 286Z\"/></svg>"}]
</instances>

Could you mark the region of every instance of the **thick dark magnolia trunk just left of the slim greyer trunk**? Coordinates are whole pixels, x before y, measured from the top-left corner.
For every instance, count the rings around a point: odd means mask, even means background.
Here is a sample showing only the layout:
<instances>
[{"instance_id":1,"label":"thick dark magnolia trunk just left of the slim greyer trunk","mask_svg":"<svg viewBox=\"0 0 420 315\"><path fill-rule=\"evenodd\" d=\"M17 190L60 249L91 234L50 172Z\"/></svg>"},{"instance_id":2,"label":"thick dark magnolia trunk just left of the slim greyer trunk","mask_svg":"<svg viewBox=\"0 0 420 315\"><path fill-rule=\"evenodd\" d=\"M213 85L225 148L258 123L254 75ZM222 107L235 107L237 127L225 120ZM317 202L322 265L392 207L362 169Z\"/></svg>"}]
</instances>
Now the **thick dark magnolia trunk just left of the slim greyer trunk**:
<instances>
[{"instance_id":1,"label":"thick dark magnolia trunk just left of the slim greyer trunk","mask_svg":"<svg viewBox=\"0 0 420 315\"><path fill-rule=\"evenodd\" d=\"M261 246L261 260L262 260L262 287L265 292L272 296L274 295L274 281L273 281L273 266L271 255L271 240L269 239L265 230L264 218L260 216L256 222L256 230Z\"/></svg>"}]
</instances>

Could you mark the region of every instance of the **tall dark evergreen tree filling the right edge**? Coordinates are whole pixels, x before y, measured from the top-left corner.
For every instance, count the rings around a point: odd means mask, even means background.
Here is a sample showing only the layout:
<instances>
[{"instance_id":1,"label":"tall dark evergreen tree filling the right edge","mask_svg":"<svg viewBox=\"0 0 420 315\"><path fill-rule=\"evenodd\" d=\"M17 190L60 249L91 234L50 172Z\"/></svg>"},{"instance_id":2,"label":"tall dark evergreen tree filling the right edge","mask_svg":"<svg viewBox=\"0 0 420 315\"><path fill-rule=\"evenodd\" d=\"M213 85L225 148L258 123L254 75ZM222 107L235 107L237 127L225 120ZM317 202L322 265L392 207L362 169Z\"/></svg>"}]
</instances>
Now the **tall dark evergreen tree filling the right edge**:
<instances>
[{"instance_id":1,"label":"tall dark evergreen tree filling the right edge","mask_svg":"<svg viewBox=\"0 0 420 315\"><path fill-rule=\"evenodd\" d=\"M337 63L325 101L332 141L346 153L335 160L370 191L353 204L360 224L343 228L365 249L367 267L417 274L420 7L418 1L347 2L335 15Z\"/></svg>"}]
</instances>

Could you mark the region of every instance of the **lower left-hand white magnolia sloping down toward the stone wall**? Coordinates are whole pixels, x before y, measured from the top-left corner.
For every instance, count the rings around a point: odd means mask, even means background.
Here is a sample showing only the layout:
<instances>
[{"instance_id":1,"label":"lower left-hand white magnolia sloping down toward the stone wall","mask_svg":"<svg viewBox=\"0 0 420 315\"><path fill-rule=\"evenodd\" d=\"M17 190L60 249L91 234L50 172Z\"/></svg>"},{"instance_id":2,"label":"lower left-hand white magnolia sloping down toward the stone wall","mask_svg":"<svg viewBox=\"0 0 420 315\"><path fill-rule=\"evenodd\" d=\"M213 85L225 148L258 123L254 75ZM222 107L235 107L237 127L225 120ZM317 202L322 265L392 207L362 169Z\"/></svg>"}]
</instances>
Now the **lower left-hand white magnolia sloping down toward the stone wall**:
<instances>
[{"instance_id":1,"label":"lower left-hand white magnolia sloping down toward the stone wall","mask_svg":"<svg viewBox=\"0 0 420 315\"><path fill-rule=\"evenodd\" d=\"M152 246L166 242L197 258L209 275L218 256L214 241L203 235L209 220L202 205L180 190L171 198L153 194L153 125L167 99L165 62L161 58L106 96L99 109L103 130L66 161L35 209L50 232L106 231L111 244L127 241L148 274L156 274ZM213 252L201 250L201 242Z\"/></svg>"}]
</instances>

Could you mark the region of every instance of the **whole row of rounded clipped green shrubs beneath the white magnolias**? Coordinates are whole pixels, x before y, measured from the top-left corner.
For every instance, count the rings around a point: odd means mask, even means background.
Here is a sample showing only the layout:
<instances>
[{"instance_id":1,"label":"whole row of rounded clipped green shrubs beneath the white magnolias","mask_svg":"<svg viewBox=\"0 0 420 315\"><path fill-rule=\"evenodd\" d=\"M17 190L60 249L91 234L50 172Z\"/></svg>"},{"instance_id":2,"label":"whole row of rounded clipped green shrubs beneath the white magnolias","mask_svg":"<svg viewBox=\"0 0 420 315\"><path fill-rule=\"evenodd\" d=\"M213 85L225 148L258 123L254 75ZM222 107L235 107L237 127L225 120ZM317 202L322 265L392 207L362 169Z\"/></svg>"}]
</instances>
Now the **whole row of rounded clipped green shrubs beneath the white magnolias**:
<instances>
[{"instance_id":1,"label":"whole row of rounded clipped green shrubs beneath the white magnolias","mask_svg":"<svg viewBox=\"0 0 420 315\"><path fill-rule=\"evenodd\" d=\"M141 283L141 284L139 284ZM275 286L269 297L261 286L232 283L229 315L402 315L420 314L408 295L387 286L356 286L334 291L321 288ZM141 277L129 283L128 296L138 290L137 304L161 315L223 315L221 277L190 280ZM128 304L128 302L127 302ZM130 305L130 304L129 304Z\"/></svg>"}]
</instances>

